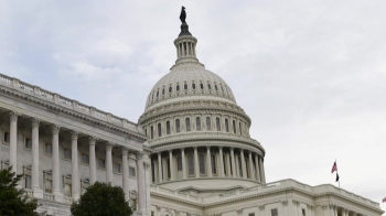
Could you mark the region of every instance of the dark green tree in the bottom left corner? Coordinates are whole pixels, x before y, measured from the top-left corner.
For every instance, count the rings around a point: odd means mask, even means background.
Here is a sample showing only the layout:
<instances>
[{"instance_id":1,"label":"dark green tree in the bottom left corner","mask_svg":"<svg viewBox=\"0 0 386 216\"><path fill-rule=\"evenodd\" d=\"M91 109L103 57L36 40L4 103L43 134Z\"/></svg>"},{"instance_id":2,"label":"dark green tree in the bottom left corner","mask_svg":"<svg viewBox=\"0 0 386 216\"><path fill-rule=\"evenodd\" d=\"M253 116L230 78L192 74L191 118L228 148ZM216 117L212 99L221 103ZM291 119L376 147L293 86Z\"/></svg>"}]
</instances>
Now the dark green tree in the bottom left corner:
<instances>
[{"instance_id":1,"label":"dark green tree in the bottom left corner","mask_svg":"<svg viewBox=\"0 0 386 216\"><path fill-rule=\"evenodd\" d=\"M17 187L22 177L23 174L17 175L11 166L0 171L0 215L39 216L34 212L37 207L36 199L31 199L23 188Z\"/></svg>"}]
</instances>

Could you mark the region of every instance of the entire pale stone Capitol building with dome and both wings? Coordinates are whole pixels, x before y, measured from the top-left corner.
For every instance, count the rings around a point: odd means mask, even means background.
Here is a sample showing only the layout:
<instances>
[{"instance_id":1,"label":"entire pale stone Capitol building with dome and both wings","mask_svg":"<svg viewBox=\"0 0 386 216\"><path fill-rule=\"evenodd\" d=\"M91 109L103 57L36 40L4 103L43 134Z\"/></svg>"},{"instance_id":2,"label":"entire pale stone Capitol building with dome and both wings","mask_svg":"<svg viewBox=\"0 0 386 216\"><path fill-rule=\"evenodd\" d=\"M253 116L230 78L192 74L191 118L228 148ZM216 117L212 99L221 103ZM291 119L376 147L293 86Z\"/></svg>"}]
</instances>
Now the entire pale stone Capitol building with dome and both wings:
<instances>
[{"instance_id":1,"label":"entire pale stone Capitol building with dome and both wings","mask_svg":"<svg viewBox=\"0 0 386 216\"><path fill-rule=\"evenodd\" d=\"M37 210L71 215L95 183L121 186L148 216L380 216L379 204L331 184L266 182L261 143L230 87L199 62L185 22L176 61L138 122L0 74L0 161L23 173Z\"/></svg>"}]
</instances>

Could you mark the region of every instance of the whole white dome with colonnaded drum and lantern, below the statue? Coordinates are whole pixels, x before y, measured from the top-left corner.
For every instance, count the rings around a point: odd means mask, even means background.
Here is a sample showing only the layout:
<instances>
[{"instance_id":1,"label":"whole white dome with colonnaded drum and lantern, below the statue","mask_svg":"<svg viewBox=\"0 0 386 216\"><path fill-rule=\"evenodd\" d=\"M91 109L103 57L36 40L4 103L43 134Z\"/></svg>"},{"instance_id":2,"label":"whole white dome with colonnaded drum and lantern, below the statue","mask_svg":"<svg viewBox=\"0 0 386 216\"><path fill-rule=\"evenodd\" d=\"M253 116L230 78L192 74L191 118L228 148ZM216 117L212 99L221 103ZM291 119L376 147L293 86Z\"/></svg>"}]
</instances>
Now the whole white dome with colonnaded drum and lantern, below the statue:
<instances>
[{"instance_id":1,"label":"whole white dome with colonnaded drum and lantern, below the statue","mask_svg":"<svg viewBox=\"0 0 386 216\"><path fill-rule=\"evenodd\" d=\"M266 152L250 138L251 120L224 79L199 62L196 43L182 21L175 64L139 118L154 150L150 182L197 196L264 184Z\"/></svg>"}]
</instances>

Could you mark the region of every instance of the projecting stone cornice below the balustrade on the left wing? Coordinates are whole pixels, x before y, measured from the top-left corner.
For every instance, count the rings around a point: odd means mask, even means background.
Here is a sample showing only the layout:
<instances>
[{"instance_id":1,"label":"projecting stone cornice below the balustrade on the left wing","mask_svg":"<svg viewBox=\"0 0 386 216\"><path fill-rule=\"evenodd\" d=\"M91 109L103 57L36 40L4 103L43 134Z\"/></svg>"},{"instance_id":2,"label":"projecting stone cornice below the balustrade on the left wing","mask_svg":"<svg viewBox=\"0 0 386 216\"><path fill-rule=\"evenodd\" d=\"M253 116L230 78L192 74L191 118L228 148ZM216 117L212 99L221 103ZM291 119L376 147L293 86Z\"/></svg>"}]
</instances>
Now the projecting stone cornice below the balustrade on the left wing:
<instances>
[{"instance_id":1,"label":"projecting stone cornice below the balustrade on the left wing","mask_svg":"<svg viewBox=\"0 0 386 216\"><path fill-rule=\"evenodd\" d=\"M141 141L141 142L143 142L148 139L147 137L144 137L141 133L131 131L131 130L126 129L124 127L119 127L119 126L111 123L111 122L108 122L106 120L101 120L101 119L92 117L92 116L83 114L81 111L69 109L65 106L55 104L54 101L49 101L45 98L40 98L40 97L34 96L34 95L20 91L18 89L12 89L8 86L3 86L1 83L0 83L0 93L3 93L10 97L14 97L14 98L18 98L21 100L26 100L29 102L32 102L32 104L37 105L40 107L43 107L44 109L50 109L52 111L68 115L73 118L79 119L81 121L87 121L87 122L90 122L90 123L99 126L99 127L108 128L110 130L129 136L131 139L137 139L138 141ZM90 109L95 109L95 108L90 107ZM128 120L126 120L126 121L129 122ZM135 125L135 127L137 127L137 126L138 125Z\"/></svg>"}]
</instances>

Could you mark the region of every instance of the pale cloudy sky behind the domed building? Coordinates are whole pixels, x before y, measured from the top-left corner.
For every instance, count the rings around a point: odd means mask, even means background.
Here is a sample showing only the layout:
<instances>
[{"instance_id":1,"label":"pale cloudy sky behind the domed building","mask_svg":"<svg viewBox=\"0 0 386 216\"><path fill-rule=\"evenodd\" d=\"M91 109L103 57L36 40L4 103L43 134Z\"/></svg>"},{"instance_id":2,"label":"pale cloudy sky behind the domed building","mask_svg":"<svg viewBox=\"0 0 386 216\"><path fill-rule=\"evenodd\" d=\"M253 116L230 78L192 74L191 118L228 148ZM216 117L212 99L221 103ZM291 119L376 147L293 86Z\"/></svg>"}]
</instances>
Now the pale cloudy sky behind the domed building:
<instances>
[{"instance_id":1,"label":"pale cloudy sky behind the domed building","mask_svg":"<svg viewBox=\"0 0 386 216\"><path fill-rule=\"evenodd\" d=\"M137 122L176 60L181 6L268 182L337 186L336 160L342 188L386 197L386 1L4 0L0 73Z\"/></svg>"}]
</instances>

